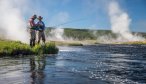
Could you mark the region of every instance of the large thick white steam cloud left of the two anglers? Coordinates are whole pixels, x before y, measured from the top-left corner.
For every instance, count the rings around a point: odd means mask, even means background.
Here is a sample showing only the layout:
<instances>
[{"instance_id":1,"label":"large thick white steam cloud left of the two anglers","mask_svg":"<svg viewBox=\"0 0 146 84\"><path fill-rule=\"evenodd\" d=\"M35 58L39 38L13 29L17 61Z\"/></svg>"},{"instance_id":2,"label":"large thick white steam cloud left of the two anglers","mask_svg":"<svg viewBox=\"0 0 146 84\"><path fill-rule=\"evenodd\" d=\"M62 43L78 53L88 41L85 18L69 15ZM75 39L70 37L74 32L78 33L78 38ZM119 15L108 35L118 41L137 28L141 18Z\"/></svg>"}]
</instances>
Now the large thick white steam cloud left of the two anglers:
<instances>
[{"instance_id":1,"label":"large thick white steam cloud left of the two anglers","mask_svg":"<svg viewBox=\"0 0 146 84\"><path fill-rule=\"evenodd\" d=\"M27 43L26 24L22 17L21 9L16 7L18 4L23 3L23 0L0 1L0 34L3 34L6 39Z\"/></svg>"}]
</instances>

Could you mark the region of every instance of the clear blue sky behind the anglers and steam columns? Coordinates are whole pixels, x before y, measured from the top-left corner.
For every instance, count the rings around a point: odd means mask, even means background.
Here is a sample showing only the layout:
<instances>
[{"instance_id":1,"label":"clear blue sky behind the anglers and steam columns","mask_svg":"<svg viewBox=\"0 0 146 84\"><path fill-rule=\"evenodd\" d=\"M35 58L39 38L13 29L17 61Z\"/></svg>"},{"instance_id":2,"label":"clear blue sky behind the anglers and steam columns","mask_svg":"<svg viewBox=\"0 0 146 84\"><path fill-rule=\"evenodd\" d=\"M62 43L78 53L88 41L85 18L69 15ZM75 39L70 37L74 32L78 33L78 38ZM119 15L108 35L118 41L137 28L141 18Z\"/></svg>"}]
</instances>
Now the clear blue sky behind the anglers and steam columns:
<instances>
[{"instance_id":1,"label":"clear blue sky behind the anglers and steam columns","mask_svg":"<svg viewBox=\"0 0 146 84\"><path fill-rule=\"evenodd\" d=\"M111 29L108 3L112 0L27 0L24 19L43 16L47 27ZM146 0L115 0L130 19L130 30L146 32ZM22 8L23 9L23 8ZM29 11L28 11L29 10Z\"/></svg>"}]
</instances>

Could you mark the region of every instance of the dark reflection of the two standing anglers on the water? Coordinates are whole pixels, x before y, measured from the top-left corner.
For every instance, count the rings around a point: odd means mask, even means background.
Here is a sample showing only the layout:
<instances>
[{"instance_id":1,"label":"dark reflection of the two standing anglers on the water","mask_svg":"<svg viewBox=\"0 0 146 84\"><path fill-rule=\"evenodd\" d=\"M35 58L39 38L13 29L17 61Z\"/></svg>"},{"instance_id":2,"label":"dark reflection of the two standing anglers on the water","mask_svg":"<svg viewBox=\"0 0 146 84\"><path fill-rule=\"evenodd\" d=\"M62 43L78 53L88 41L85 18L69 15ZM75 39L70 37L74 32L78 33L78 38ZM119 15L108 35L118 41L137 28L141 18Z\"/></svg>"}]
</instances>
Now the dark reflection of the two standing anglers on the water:
<instances>
[{"instance_id":1,"label":"dark reflection of the two standing anglers on the water","mask_svg":"<svg viewBox=\"0 0 146 84\"><path fill-rule=\"evenodd\" d=\"M46 66L46 59L44 56L30 58L30 77L32 78L31 84L44 84L43 79L45 78L44 69ZM36 61L35 61L36 60Z\"/></svg>"}]
</instances>

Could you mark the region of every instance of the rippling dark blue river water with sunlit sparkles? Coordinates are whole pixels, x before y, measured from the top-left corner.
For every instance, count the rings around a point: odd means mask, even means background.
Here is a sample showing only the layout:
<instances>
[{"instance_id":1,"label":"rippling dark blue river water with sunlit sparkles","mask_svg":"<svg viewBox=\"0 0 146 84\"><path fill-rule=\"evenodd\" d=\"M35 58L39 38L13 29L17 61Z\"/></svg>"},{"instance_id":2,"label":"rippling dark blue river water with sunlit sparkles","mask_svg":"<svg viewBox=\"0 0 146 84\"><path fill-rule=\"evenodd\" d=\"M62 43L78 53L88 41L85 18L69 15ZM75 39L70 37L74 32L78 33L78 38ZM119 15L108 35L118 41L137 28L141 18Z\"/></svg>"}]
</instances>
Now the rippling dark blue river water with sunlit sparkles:
<instances>
[{"instance_id":1,"label":"rippling dark blue river water with sunlit sparkles","mask_svg":"<svg viewBox=\"0 0 146 84\"><path fill-rule=\"evenodd\" d=\"M0 84L146 84L146 45L59 48L58 55L0 58Z\"/></svg>"}]
</instances>

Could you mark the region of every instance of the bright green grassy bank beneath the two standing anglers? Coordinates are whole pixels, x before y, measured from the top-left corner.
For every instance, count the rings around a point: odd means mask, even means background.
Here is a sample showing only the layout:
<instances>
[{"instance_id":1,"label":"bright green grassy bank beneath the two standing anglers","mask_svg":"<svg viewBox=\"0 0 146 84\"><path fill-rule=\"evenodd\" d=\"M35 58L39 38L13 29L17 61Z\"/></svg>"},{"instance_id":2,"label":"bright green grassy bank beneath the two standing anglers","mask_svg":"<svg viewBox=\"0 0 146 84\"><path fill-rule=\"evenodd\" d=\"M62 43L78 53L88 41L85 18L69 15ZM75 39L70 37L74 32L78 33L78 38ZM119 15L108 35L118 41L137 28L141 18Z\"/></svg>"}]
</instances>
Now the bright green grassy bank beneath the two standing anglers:
<instances>
[{"instance_id":1,"label":"bright green grassy bank beneath the two standing anglers","mask_svg":"<svg viewBox=\"0 0 146 84\"><path fill-rule=\"evenodd\" d=\"M57 54L59 49L54 42L44 46L36 45L31 48L28 44L19 41L0 41L0 56L34 55L34 54Z\"/></svg>"}]
</instances>

